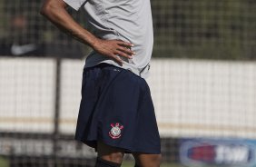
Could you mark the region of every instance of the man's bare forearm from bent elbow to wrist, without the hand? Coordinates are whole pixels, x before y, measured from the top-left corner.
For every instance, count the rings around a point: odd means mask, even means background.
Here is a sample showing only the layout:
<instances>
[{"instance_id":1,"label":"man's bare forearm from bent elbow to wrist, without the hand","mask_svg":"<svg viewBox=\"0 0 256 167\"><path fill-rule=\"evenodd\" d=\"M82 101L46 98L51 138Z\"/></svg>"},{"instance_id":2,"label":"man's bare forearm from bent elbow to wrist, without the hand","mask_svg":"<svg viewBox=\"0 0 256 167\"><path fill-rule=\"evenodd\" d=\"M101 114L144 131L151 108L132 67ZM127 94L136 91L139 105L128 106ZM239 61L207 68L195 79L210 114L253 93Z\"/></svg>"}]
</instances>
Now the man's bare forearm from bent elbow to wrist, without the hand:
<instances>
[{"instance_id":1,"label":"man's bare forearm from bent elbow to wrist, without the hand","mask_svg":"<svg viewBox=\"0 0 256 167\"><path fill-rule=\"evenodd\" d=\"M71 34L71 36L78 41L94 47L94 44L97 42L97 38L94 34L91 34L81 25L77 24L72 16L65 10L65 5L60 5L58 3L60 3L60 1L48 4L45 3L41 9L41 14L48 18L59 29L64 31L64 33Z\"/></svg>"}]
</instances>

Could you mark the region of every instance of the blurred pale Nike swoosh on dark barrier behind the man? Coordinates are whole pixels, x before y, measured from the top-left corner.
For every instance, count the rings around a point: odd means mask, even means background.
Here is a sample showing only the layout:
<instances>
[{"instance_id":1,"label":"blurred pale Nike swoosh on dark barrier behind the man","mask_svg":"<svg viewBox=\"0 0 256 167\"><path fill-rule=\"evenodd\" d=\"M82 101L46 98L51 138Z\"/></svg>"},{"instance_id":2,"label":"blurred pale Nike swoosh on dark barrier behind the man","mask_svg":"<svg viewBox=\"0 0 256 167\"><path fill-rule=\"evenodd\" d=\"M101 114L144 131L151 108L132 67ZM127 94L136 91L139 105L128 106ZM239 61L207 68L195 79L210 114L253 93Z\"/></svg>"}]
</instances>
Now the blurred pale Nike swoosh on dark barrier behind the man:
<instances>
[{"instance_id":1,"label":"blurred pale Nike swoosh on dark barrier behind the man","mask_svg":"<svg viewBox=\"0 0 256 167\"><path fill-rule=\"evenodd\" d=\"M36 44L23 44L17 45L13 44L11 47L11 53L14 55L27 54L36 49Z\"/></svg>"}]
</instances>

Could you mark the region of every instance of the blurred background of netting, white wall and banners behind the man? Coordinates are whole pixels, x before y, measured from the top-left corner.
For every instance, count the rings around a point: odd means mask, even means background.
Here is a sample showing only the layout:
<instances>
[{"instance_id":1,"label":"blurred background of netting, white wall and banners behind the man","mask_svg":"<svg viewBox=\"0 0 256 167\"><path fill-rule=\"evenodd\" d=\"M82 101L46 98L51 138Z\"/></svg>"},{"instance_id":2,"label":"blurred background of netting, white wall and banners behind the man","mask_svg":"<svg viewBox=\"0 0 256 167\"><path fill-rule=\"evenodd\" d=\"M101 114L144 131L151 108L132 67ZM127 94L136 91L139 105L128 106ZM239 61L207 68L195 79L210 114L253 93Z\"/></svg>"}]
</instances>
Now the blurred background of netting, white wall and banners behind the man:
<instances>
[{"instance_id":1,"label":"blurred background of netting, white wall and banners behind the man","mask_svg":"<svg viewBox=\"0 0 256 167\"><path fill-rule=\"evenodd\" d=\"M255 167L256 1L151 2L162 166ZM41 5L0 0L0 167L93 167L94 150L74 141L90 48ZM86 27L83 10L68 11Z\"/></svg>"}]
</instances>

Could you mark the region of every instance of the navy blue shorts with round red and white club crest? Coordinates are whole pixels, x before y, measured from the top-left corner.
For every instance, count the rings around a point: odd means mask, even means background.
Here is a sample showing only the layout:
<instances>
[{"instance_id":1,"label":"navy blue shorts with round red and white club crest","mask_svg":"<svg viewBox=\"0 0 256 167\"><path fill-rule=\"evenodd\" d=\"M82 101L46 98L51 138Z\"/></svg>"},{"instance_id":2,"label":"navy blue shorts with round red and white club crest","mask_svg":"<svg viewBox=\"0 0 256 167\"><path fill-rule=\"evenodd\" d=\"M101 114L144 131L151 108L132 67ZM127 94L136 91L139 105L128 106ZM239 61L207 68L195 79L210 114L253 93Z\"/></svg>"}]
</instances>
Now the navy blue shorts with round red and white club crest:
<instances>
[{"instance_id":1,"label":"navy blue shorts with round red and white club crest","mask_svg":"<svg viewBox=\"0 0 256 167\"><path fill-rule=\"evenodd\" d=\"M124 152L160 153L153 101L146 81L111 64L85 68L75 140Z\"/></svg>"}]
</instances>

